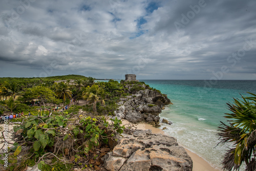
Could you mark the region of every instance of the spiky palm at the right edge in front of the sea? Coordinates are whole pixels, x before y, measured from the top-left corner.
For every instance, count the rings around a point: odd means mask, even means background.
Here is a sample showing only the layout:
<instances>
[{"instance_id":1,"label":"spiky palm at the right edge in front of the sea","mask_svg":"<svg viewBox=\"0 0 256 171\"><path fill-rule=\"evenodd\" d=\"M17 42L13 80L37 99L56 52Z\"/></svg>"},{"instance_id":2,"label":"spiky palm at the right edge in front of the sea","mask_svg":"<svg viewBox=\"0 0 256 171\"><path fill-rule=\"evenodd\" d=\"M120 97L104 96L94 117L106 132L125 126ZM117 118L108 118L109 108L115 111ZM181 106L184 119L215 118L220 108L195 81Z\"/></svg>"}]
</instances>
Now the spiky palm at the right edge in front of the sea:
<instances>
[{"instance_id":1,"label":"spiky palm at the right edge in front of the sea","mask_svg":"<svg viewBox=\"0 0 256 171\"><path fill-rule=\"evenodd\" d=\"M246 170L256 169L256 95L234 99L234 104L227 103L231 113L226 113L229 123L221 122L218 127L220 143L232 142L222 161L223 169L239 170L246 164Z\"/></svg>"}]
</instances>

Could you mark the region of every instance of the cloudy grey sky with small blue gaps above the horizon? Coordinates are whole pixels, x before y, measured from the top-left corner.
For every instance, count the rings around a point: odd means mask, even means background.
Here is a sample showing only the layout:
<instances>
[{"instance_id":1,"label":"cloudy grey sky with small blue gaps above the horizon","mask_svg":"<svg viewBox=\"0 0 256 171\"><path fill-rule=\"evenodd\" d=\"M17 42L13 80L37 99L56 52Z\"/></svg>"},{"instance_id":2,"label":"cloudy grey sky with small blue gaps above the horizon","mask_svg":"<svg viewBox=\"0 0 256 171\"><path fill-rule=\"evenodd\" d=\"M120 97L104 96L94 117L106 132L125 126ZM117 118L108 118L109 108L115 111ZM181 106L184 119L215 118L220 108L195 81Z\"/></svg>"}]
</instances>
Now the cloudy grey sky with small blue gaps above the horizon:
<instances>
[{"instance_id":1,"label":"cloudy grey sky with small blue gaps above the horizon","mask_svg":"<svg viewBox=\"0 0 256 171\"><path fill-rule=\"evenodd\" d=\"M255 0L1 0L0 77L256 79Z\"/></svg>"}]
</instances>

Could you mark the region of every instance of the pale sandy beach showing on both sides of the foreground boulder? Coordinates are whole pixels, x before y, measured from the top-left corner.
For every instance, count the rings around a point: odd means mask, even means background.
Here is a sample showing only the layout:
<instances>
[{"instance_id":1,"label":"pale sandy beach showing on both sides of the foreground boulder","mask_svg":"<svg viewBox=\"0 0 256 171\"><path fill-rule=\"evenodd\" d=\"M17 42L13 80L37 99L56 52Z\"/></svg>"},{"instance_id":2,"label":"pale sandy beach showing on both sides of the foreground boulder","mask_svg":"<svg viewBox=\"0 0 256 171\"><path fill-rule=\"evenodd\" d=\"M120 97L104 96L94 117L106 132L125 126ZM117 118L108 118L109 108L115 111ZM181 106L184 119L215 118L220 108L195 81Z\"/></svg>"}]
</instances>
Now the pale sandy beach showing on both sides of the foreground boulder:
<instances>
[{"instance_id":1,"label":"pale sandy beach showing on both sides of the foreground boulder","mask_svg":"<svg viewBox=\"0 0 256 171\"><path fill-rule=\"evenodd\" d=\"M163 134L166 135L165 132L157 127L153 127L150 124L146 123L132 123L127 121L126 119L122 119L122 124L132 124L137 127L137 130L151 130L153 134ZM175 138L175 137L174 137ZM184 147L185 148L185 147ZM196 153L189 151L189 149L185 148L187 154L193 160L193 171L221 171L217 168L212 167L207 161L198 156Z\"/></svg>"}]
</instances>

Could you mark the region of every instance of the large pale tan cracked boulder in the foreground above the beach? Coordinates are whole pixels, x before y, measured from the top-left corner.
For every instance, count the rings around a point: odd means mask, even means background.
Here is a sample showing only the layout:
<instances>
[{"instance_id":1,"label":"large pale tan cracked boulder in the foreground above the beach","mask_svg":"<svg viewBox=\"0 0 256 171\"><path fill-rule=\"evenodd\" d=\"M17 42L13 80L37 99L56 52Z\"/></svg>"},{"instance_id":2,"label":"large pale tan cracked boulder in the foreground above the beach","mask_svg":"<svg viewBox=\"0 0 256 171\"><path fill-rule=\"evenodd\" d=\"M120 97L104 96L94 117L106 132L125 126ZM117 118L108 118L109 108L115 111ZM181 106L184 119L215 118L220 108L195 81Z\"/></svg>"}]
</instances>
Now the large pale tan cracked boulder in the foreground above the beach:
<instances>
[{"instance_id":1,"label":"large pale tan cracked boulder in the foreground above the beach","mask_svg":"<svg viewBox=\"0 0 256 171\"><path fill-rule=\"evenodd\" d=\"M137 130L133 135L123 134L105 155L104 167L111 171L191 171L193 161L175 138Z\"/></svg>"}]
</instances>

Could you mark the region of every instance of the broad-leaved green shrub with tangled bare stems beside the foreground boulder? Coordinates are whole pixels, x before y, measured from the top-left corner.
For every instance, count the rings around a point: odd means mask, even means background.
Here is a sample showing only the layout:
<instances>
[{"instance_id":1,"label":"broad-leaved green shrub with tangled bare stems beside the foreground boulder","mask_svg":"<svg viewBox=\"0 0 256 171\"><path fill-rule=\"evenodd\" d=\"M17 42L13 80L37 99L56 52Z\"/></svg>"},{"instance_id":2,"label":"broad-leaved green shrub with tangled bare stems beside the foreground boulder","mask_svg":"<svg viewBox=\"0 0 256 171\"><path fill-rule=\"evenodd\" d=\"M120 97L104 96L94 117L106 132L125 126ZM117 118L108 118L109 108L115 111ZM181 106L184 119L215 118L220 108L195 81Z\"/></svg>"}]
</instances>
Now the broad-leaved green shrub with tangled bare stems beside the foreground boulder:
<instances>
[{"instance_id":1,"label":"broad-leaved green shrub with tangled bare stems beside the foreground boulder","mask_svg":"<svg viewBox=\"0 0 256 171\"><path fill-rule=\"evenodd\" d=\"M90 165L87 156L92 156L96 147L105 148L104 144L108 144L109 139L123 132L124 126L120 126L120 120L115 118L111 121L113 124L104 117L86 117L78 114L61 116L59 113L28 117L21 125L14 126L13 136L19 141L14 144L14 154L8 155L9 160L15 161L13 159L21 152L22 146L27 146L39 169L47 167L42 159L62 154L65 154L62 157L68 160L73 158L71 164L82 161L83 165ZM61 160L60 158L58 160ZM58 164L60 170L65 170L63 166L67 170L70 169L65 163Z\"/></svg>"}]
</instances>

